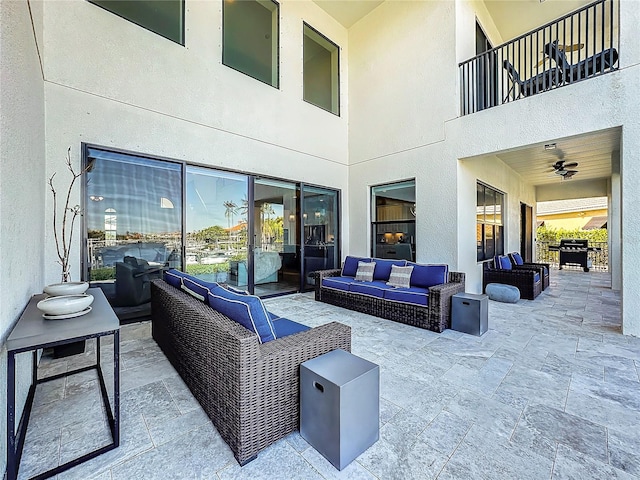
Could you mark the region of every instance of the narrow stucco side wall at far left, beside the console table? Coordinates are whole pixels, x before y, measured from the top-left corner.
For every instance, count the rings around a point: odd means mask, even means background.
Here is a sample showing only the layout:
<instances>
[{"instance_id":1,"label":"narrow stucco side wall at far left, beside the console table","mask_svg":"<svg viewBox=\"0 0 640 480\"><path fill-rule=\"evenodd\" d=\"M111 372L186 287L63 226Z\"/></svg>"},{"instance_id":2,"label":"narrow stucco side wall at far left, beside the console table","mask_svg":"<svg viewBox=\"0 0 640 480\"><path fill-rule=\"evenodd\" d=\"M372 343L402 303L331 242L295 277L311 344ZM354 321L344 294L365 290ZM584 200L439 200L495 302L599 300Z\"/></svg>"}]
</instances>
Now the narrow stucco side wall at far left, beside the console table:
<instances>
[{"instance_id":1,"label":"narrow stucco side wall at far left, beside the console table","mask_svg":"<svg viewBox=\"0 0 640 480\"><path fill-rule=\"evenodd\" d=\"M6 468L5 341L31 295L42 291L44 236L44 94L26 1L0 1L0 476ZM17 358L18 414L31 382L31 357Z\"/></svg>"}]
</instances>

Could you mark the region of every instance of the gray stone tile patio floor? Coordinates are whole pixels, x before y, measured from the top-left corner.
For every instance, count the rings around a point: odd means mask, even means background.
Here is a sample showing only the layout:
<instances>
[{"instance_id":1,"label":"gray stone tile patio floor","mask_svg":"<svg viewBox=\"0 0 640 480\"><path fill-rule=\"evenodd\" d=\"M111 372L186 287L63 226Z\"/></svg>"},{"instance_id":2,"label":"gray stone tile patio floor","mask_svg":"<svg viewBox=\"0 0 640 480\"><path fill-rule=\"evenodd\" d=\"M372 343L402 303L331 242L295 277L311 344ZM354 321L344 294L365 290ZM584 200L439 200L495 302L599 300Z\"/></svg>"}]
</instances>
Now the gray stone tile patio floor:
<instances>
[{"instance_id":1,"label":"gray stone tile patio floor","mask_svg":"<svg viewBox=\"0 0 640 480\"><path fill-rule=\"evenodd\" d=\"M489 302L482 337L435 334L309 294L267 300L310 326L350 325L353 353L381 366L380 440L342 472L298 433L240 468L150 325L125 326L121 446L58 478L640 478L640 339L621 335L619 297L608 286L607 274L553 270L535 301ZM40 375L91 358L45 355ZM39 387L20 478L106 443L105 420L96 418L95 373Z\"/></svg>"}]
</instances>

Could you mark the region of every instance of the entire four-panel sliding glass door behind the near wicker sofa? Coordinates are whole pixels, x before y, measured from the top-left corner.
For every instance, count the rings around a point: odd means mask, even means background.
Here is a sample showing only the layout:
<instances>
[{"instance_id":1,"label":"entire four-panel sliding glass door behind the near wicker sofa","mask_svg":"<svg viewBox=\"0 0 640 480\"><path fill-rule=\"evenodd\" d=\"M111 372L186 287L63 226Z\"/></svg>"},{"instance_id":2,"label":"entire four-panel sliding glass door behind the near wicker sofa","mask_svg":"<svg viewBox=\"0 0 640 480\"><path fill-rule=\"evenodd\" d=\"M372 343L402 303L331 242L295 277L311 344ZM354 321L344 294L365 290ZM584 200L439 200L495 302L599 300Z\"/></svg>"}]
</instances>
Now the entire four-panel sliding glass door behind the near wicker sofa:
<instances>
[{"instance_id":1,"label":"entire four-panel sliding glass door behind the near wicker sofa","mask_svg":"<svg viewBox=\"0 0 640 480\"><path fill-rule=\"evenodd\" d=\"M83 279L121 319L148 315L169 268L270 296L340 265L336 190L90 146L84 162Z\"/></svg>"}]
</instances>

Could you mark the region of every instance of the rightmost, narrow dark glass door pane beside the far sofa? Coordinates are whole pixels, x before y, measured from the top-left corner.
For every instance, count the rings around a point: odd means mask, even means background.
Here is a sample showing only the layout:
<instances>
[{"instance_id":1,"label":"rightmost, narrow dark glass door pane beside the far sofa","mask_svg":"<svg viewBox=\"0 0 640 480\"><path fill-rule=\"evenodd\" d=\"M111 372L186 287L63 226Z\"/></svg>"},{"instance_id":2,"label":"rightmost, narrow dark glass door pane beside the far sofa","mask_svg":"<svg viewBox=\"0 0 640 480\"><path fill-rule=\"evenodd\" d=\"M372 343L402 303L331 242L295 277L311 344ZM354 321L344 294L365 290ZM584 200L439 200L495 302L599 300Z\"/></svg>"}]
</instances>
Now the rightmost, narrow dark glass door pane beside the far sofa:
<instances>
[{"instance_id":1,"label":"rightmost, narrow dark glass door pane beside the far sofa","mask_svg":"<svg viewBox=\"0 0 640 480\"><path fill-rule=\"evenodd\" d=\"M313 288L311 272L340 266L337 248L338 192L304 185L302 190L304 224L304 289Z\"/></svg>"}]
</instances>

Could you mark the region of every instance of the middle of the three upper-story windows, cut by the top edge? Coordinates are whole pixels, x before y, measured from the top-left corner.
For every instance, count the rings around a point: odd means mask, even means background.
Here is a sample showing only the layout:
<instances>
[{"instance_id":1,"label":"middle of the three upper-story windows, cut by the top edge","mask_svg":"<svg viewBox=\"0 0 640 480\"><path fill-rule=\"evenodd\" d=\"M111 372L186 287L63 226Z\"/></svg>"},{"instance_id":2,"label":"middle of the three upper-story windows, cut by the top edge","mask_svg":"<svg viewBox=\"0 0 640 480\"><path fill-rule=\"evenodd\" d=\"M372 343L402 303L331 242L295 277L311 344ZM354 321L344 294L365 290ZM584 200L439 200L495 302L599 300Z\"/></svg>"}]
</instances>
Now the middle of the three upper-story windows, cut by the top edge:
<instances>
[{"instance_id":1,"label":"middle of the three upper-story windows, cut by the top edge","mask_svg":"<svg viewBox=\"0 0 640 480\"><path fill-rule=\"evenodd\" d=\"M271 0L224 0L222 63L278 88L278 18Z\"/></svg>"}]
</instances>

